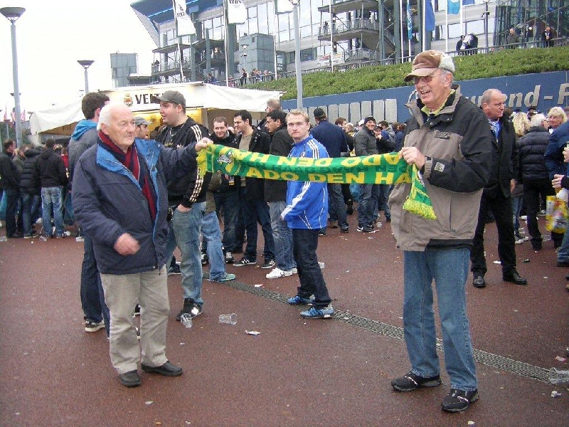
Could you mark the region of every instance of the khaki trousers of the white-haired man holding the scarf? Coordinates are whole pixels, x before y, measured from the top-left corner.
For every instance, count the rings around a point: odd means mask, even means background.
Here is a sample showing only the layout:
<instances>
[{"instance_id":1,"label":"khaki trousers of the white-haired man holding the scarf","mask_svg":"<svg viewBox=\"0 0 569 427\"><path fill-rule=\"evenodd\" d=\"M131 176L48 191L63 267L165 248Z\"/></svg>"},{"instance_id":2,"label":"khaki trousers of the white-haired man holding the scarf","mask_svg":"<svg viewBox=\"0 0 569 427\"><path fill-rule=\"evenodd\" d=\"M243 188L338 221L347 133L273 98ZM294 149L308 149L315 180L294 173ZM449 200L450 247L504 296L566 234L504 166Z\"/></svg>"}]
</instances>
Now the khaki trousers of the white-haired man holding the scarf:
<instances>
[{"instance_id":1,"label":"khaki trousers of the white-haired man holding the scarf","mask_svg":"<svg viewBox=\"0 0 569 427\"><path fill-rule=\"evenodd\" d=\"M101 274L105 302L110 310L109 354L119 374L142 363L158 367L166 363L166 325L170 313L166 267L127 275ZM140 305L140 344L132 322Z\"/></svg>"}]
</instances>

